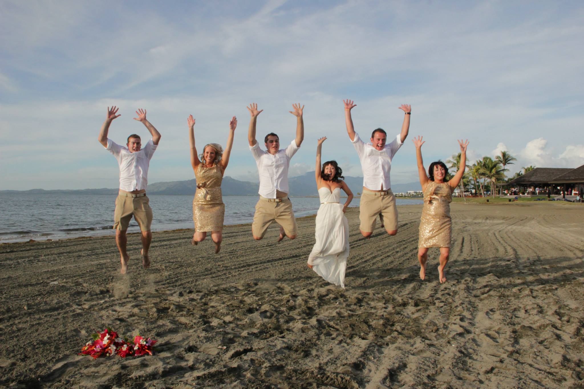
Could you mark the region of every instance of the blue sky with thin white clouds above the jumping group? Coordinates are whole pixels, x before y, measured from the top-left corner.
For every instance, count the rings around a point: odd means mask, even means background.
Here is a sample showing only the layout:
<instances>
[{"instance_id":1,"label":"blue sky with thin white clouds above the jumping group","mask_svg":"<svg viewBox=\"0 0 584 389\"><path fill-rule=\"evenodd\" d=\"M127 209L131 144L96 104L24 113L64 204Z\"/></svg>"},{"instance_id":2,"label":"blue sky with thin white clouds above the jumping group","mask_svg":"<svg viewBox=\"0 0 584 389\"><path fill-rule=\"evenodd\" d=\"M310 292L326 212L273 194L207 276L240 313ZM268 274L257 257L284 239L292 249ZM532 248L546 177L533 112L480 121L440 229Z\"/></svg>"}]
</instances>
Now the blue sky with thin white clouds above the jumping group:
<instances>
[{"instance_id":1,"label":"blue sky with thin white clouds above the jumping group","mask_svg":"<svg viewBox=\"0 0 584 389\"><path fill-rule=\"evenodd\" d=\"M187 117L199 148L225 145L238 118L226 176L258 181L246 105L258 103L258 139L305 137L290 176L323 160L362 176L345 129L352 99L361 138L393 138L400 104L411 127L392 162L393 183L460 151L469 163L507 150L523 166L584 164L584 3L580 1L13 1L0 2L0 190L116 188L116 159L98 143L162 134L148 181L189 180Z\"/></svg>"}]
</instances>

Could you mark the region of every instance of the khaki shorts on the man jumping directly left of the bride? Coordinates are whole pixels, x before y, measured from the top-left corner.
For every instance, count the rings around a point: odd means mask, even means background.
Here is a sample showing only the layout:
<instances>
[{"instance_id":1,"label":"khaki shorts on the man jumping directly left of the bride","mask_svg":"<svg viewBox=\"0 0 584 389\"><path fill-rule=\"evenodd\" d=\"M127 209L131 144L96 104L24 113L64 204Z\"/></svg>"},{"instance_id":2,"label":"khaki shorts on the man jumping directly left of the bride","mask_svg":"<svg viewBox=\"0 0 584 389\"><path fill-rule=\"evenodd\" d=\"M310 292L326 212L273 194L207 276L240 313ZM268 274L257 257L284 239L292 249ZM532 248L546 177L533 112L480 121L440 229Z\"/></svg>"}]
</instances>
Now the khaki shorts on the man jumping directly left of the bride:
<instances>
[{"instance_id":1,"label":"khaki shorts on the man jumping directly left of the bride","mask_svg":"<svg viewBox=\"0 0 584 389\"><path fill-rule=\"evenodd\" d=\"M296 219L292 211L292 202L289 198L282 201L273 201L260 196L256 204L256 212L253 215L252 232L253 236L262 237L266 234L267 227L272 222L278 223L284 228L287 236L293 236L298 233Z\"/></svg>"}]
</instances>

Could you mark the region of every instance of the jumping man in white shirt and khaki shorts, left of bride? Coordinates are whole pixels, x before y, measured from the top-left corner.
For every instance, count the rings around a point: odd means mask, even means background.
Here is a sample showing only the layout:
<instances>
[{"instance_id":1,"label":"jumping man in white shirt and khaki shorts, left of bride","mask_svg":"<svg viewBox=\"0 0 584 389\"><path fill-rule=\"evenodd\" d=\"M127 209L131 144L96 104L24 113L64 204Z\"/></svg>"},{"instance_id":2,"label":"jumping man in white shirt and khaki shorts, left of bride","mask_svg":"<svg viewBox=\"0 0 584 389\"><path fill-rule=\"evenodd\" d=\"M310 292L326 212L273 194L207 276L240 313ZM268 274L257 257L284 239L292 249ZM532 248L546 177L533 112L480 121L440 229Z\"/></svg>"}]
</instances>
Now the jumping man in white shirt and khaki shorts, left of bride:
<instances>
[{"instance_id":1,"label":"jumping man in white shirt and khaki shorts, left of bride","mask_svg":"<svg viewBox=\"0 0 584 389\"><path fill-rule=\"evenodd\" d=\"M259 201L256 204L253 215L252 233L253 239L260 240L266 234L267 227L275 220L280 225L280 237L278 241L287 236L296 238L298 226L294 219L292 203L288 198L288 166L290 158L296 154L304 139L304 121L300 104L292 104L294 111L289 111L296 116L296 138L286 149L280 149L280 138L273 132L264 138L267 151L260 149L256 141L256 121L258 104L252 103L248 108L251 114L249 121L248 142L253 158L256 160L259 173Z\"/></svg>"}]
</instances>

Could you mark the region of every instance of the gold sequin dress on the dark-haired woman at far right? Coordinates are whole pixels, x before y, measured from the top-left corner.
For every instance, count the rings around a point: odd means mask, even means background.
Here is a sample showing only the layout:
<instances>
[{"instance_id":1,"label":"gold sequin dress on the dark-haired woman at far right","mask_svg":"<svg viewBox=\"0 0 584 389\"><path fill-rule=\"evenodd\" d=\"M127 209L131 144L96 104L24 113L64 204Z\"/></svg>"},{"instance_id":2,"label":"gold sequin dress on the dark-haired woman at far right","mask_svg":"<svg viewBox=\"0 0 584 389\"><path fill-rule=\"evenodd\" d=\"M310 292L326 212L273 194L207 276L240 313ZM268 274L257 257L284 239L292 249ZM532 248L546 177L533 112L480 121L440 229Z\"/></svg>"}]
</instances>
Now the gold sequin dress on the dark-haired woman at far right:
<instances>
[{"instance_id":1,"label":"gold sequin dress on the dark-haired woman at far right","mask_svg":"<svg viewBox=\"0 0 584 389\"><path fill-rule=\"evenodd\" d=\"M418 247L450 247L450 203L452 190L447 183L430 181L424 191Z\"/></svg>"}]
</instances>

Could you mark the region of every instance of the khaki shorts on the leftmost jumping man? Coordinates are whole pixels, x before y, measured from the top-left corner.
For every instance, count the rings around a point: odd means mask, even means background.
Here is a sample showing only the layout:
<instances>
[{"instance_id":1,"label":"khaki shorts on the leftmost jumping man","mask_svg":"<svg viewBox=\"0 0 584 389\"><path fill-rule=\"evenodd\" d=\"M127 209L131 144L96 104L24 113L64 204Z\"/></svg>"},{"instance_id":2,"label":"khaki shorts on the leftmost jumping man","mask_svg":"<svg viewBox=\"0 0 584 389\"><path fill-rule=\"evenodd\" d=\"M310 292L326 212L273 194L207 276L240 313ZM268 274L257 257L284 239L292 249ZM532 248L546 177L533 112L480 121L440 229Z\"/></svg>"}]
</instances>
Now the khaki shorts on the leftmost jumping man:
<instances>
[{"instance_id":1,"label":"khaki shorts on the leftmost jumping man","mask_svg":"<svg viewBox=\"0 0 584 389\"><path fill-rule=\"evenodd\" d=\"M139 195L141 196L131 197L132 194L123 192L117 195L116 211L113 213L114 229L126 231L133 215L141 231L150 231L152 224L152 209L148 204L150 199L144 193Z\"/></svg>"}]
</instances>

